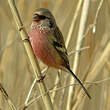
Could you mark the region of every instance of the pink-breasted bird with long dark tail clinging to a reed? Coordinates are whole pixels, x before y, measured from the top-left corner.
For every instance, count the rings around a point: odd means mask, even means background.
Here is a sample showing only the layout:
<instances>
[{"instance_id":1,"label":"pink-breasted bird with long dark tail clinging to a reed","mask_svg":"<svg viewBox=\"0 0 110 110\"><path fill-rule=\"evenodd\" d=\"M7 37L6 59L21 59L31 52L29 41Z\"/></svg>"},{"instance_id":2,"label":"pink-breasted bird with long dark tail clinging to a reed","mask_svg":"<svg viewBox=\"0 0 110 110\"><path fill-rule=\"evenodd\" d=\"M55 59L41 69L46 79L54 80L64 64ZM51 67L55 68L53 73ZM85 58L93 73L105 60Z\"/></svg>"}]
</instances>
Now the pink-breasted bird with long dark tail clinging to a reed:
<instances>
[{"instance_id":1,"label":"pink-breasted bird with long dark tail clinging to a reed","mask_svg":"<svg viewBox=\"0 0 110 110\"><path fill-rule=\"evenodd\" d=\"M83 88L89 99L91 99L83 83L70 69L63 35L49 9L38 8L35 10L32 16L29 39L37 58L48 67L70 73Z\"/></svg>"}]
</instances>

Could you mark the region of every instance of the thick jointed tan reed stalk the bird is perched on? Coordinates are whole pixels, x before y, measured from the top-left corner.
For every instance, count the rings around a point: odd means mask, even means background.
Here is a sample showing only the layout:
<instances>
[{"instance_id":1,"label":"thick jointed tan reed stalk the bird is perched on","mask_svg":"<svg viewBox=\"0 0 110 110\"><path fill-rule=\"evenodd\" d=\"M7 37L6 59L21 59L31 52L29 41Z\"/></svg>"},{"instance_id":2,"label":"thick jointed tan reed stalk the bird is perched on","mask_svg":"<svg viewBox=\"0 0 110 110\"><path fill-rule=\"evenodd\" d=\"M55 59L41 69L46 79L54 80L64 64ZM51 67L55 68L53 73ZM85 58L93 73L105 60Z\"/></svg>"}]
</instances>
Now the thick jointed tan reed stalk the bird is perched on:
<instances>
[{"instance_id":1,"label":"thick jointed tan reed stalk the bird is perched on","mask_svg":"<svg viewBox=\"0 0 110 110\"><path fill-rule=\"evenodd\" d=\"M27 34L25 28L23 27L23 23L21 21L20 15L19 15L18 10L16 8L15 1L8 0L8 2L9 2L9 6L11 8L14 20L16 22L17 28L21 34L21 39L25 40L25 39L27 39L28 34ZM28 54L29 60L32 64L36 80L39 80L39 78L41 77L41 71L40 71L38 61L37 61L37 59L35 59L35 56L33 54L33 50L31 48L31 45L28 41L26 41L26 42L24 42L24 46L25 46L26 52ZM47 88L46 88L44 82L42 81L42 82L38 83L38 86L39 86L46 110L53 110L53 106L52 106L49 94L43 95L47 91Z\"/></svg>"}]
</instances>

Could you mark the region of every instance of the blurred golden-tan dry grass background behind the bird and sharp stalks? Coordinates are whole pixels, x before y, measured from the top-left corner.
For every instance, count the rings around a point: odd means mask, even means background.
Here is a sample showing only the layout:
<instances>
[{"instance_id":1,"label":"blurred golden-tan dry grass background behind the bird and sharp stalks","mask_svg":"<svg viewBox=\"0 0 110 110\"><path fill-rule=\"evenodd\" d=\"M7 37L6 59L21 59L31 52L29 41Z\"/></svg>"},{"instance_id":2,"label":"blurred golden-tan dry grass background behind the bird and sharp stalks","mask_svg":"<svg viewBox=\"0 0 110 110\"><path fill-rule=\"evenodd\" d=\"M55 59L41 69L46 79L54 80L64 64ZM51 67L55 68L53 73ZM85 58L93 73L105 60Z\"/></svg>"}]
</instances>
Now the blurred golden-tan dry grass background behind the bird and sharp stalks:
<instances>
[{"instance_id":1,"label":"blurred golden-tan dry grass background behind the bird and sharp stalks","mask_svg":"<svg viewBox=\"0 0 110 110\"><path fill-rule=\"evenodd\" d=\"M76 74L82 81L89 82L85 86L89 86L88 91L92 99L89 100L79 86L75 86L73 88L74 96L69 102L70 89L69 87L64 88L64 86L70 84L71 78L65 72L60 74L60 81L57 84L58 88L63 87L63 89L55 92L53 89L56 87L58 72L50 68L44 83L48 90L53 90L52 95L50 94L51 98L55 93L55 97L52 98L54 110L110 110L110 0L88 1L90 3L84 35L87 30L89 31L84 36L81 47L89 46L89 48L80 52ZM101 1L102 6L100 6ZM82 4L76 13L78 3L79 0L16 0L18 11L28 33L34 10L44 7L53 12L65 42L68 39L73 17L77 14L68 45L68 53L75 51L76 45L78 45L76 41L83 7ZM93 28L88 28L93 23L95 32L93 32ZM71 67L74 64L74 56L75 54L69 56ZM41 69L46 67L40 61L39 64ZM8 1L0 0L0 83L17 110L22 109L34 79L32 66L20 39ZM29 101L39 95L38 85L35 84ZM69 108L67 108L68 104ZM8 101L0 92L0 110L9 109ZM42 98L34 101L27 109L45 110Z\"/></svg>"}]
</instances>

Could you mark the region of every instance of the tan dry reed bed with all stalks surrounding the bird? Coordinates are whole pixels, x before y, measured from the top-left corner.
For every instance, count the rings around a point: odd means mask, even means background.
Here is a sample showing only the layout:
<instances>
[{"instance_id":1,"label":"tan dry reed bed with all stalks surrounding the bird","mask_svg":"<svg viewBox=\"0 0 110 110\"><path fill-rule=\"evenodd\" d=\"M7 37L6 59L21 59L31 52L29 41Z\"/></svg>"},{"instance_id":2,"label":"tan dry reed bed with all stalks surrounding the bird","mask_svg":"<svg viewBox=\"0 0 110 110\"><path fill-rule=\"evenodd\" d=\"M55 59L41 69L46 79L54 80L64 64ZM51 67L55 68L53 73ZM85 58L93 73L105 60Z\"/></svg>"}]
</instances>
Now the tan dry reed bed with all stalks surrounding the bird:
<instances>
[{"instance_id":1,"label":"tan dry reed bed with all stalks surrounding the bird","mask_svg":"<svg viewBox=\"0 0 110 110\"><path fill-rule=\"evenodd\" d=\"M63 71L49 68L36 83L47 66L22 40L40 7L55 16L91 100ZM1 0L0 15L0 110L110 110L110 0Z\"/></svg>"}]
</instances>

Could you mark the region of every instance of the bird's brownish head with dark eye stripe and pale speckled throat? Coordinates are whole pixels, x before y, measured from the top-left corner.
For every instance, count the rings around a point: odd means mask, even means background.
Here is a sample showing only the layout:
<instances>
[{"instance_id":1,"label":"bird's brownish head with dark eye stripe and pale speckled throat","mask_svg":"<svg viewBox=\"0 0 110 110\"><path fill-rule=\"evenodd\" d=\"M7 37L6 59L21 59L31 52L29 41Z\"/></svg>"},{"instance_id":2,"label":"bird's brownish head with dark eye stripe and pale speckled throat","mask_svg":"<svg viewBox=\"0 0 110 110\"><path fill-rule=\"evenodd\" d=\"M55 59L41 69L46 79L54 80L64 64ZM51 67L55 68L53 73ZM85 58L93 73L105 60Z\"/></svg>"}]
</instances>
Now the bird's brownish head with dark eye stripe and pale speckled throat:
<instances>
[{"instance_id":1,"label":"bird's brownish head with dark eye stripe and pale speckled throat","mask_svg":"<svg viewBox=\"0 0 110 110\"><path fill-rule=\"evenodd\" d=\"M55 27L56 22L52 13L46 8L38 8L35 10L32 18L33 26L38 26L42 29L50 29Z\"/></svg>"}]
</instances>

